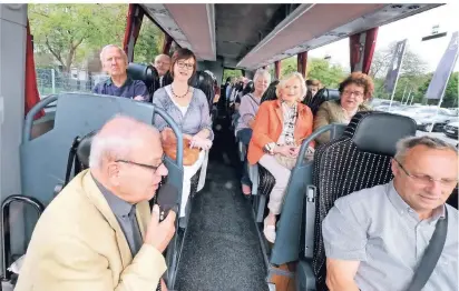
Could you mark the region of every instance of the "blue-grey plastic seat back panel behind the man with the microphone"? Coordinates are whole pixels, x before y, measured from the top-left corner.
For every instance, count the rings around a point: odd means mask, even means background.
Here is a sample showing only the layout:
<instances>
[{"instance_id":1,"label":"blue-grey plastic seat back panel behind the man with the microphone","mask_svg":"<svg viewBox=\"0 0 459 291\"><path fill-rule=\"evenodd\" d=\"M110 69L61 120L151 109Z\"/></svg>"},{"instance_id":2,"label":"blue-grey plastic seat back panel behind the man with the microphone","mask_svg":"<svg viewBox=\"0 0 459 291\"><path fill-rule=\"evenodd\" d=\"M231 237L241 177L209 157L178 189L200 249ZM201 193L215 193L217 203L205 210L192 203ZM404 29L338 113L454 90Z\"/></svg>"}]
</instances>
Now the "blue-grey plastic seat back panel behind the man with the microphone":
<instances>
[{"instance_id":1,"label":"blue-grey plastic seat back panel behind the man with the microphone","mask_svg":"<svg viewBox=\"0 0 459 291\"><path fill-rule=\"evenodd\" d=\"M31 140L33 116L30 114L55 101L57 104L53 129ZM23 127L20 146L23 194L37 198L47 205L53 198L56 184L65 181L66 172L62 169L68 162L68 149L75 137L85 137L98 130L117 113L152 123L155 112L155 108L149 103L113 96L61 93L41 100L28 113ZM82 152L81 148L80 153ZM166 159L165 164L169 171L168 181L173 181L177 189L182 189L182 162L178 165L176 161Z\"/></svg>"}]
</instances>

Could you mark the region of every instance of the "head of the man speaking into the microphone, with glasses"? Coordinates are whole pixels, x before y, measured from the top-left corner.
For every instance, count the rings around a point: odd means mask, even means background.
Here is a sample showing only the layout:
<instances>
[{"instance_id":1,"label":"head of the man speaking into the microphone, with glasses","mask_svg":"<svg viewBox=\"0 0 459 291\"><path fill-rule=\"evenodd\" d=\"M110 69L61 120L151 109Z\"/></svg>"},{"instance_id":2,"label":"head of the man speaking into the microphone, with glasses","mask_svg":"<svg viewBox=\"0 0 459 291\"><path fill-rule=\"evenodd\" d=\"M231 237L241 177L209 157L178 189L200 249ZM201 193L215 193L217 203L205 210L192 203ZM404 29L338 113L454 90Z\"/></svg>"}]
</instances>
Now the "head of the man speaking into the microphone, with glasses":
<instances>
[{"instance_id":1,"label":"head of the man speaking into the microphone, with glasses","mask_svg":"<svg viewBox=\"0 0 459 291\"><path fill-rule=\"evenodd\" d=\"M167 175L157 129L125 116L109 120L94 137L92 177L111 193L136 204L150 200Z\"/></svg>"}]
</instances>

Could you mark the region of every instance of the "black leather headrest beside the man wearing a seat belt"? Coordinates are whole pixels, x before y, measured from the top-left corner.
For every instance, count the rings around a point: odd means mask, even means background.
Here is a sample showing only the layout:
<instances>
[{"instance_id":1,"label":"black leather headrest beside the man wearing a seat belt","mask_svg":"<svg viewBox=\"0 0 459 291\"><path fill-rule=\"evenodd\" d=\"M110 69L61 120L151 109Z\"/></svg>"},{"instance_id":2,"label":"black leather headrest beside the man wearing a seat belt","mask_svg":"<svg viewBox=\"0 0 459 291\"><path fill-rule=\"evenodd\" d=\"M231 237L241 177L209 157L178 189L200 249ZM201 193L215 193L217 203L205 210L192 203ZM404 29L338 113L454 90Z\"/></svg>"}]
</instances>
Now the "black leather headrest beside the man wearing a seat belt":
<instances>
[{"instance_id":1,"label":"black leather headrest beside the man wearing a seat belt","mask_svg":"<svg viewBox=\"0 0 459 291\"><path fill-rule=\"evenodd\" d=\"M367 111L358 112L345 131L359 150L393 157L397 142L416 136L416 121L409 117Z\"/></svg>"}]
</instances>

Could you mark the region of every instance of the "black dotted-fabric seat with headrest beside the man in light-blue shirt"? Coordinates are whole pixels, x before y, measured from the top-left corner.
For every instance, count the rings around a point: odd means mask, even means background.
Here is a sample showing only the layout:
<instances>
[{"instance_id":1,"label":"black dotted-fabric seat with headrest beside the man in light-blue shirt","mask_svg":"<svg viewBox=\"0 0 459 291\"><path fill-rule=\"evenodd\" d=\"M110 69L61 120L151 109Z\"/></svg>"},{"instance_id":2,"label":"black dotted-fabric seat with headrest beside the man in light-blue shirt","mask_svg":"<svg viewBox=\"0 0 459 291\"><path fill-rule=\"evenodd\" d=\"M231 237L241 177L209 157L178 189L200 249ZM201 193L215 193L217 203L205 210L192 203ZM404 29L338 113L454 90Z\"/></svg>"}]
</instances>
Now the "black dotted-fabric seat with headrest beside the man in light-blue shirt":
<instances>
[{"instance_id":1,"label":"black dotted-fabric seat with headrest beside the man in light-blue shirt","mask_svg":"<svg viewBox=\"0 0 459 291\"><path fill-rule=\"evenodd\" d=\"M416 122L410 118L360 112L341 138L316 149L313 183L318 199L312 267L318 290L328 290L322 221L340 197L389 182L393 178L390 161L395 153L395 143L409 136L416 136Z\"/></svg>"}]
</instances>

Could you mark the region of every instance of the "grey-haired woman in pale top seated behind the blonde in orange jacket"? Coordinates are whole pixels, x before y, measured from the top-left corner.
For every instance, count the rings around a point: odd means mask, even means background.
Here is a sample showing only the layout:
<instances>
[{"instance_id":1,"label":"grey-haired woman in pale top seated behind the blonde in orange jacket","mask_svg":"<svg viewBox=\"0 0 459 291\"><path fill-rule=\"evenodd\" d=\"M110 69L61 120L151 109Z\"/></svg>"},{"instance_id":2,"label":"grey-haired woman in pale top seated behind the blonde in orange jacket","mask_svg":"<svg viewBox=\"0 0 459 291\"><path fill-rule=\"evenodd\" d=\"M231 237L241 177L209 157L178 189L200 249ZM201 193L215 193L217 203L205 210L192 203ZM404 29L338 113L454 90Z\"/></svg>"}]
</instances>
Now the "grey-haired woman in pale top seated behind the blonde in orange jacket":
<instances>
[{"instance_id":1,"label":"grey-haired woman in pale top seated behind the blonde in orange jacket","mask_svg":"<svg viewBox=\"0 0 459 291\"><path fill-rule=\"evenodd\" d=\"M271 74L266 70L257 70L253 78L255 90L253 93L247 93L242 97L240 106L240 118L237 120L236 136L237 138L248 147L248 142L252 138L252 128L255 120L255 114L258 111L260 101L262 96L267 89L267 84L271 82ZM247 172L247 160L244 160L242 169L242 192L246 195L251 194L252 182Z\"/></svg>"}]
</instances>

